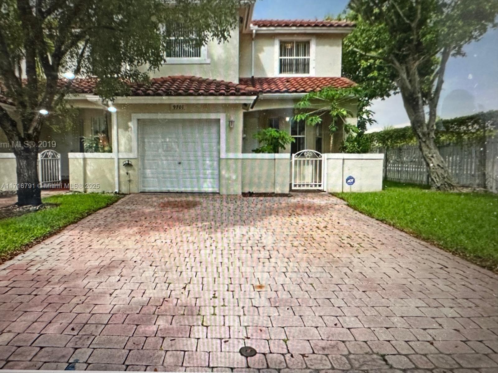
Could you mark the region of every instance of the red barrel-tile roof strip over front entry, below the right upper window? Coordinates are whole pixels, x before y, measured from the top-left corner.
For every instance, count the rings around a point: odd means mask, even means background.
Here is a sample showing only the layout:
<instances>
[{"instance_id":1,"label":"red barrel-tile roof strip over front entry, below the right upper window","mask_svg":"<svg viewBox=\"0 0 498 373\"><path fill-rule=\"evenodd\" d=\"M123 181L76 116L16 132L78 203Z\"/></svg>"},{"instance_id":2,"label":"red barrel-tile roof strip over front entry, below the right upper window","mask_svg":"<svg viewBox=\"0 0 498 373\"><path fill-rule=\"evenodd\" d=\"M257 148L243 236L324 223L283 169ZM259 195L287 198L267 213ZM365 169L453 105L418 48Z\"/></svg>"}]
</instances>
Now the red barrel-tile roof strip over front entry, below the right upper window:
<instances>
[{"instance_id":1,"label":"red barrel-tile roof strip over front entry, below the right upper window","mask_svg":"<svg viewBox=\"0 0 498 373\"><path fill-rule=\"evenodd\" d=\"M348 88L355 85L353 81L342 77L241 78L240 84L254 88L259 93L309 93L324 87Z\"/></svg>"}]
</instances>

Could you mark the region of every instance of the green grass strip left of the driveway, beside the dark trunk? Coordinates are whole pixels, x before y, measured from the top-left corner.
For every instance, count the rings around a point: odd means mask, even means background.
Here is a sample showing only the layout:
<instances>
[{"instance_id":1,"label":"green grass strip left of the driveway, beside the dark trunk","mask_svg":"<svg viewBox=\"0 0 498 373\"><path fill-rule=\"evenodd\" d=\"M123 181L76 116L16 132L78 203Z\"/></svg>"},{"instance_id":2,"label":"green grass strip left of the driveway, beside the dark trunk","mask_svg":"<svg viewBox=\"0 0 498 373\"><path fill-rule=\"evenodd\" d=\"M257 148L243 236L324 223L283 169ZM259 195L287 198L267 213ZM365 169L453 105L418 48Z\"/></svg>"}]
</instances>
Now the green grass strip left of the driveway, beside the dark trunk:
<instances>
[{"instance_id":1,"label":"green grass strip left of the driveway, beside the dark trunk","mask_svg":"<svg viewBox=\"0 0 498 373\"><path fill-rule=\"evenodd\" d=\"M59 194L43 198L58 206L0 220L0 262L23 246L106 207L121 196L109 193Z\"/></svg>"}]
</instances>

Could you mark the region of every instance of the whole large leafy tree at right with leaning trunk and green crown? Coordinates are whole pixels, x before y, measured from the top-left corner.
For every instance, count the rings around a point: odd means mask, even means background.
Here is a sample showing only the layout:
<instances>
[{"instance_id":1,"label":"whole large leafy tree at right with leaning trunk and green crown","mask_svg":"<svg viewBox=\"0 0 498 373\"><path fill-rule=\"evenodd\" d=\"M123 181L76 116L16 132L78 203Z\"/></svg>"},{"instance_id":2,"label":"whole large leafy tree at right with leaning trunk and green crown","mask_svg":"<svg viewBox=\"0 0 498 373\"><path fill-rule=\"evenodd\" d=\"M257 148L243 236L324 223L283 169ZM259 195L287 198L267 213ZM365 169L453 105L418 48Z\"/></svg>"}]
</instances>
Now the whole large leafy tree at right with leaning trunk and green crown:
<instances>
[{"instance_id":1,"label":"whole large leafy tree at right with leaning trunk and green crown","mask_svg":"<svg viewBox=\"0 0 498 373\"><path fill-rule=\"evenodd\" d=\"M345 39L345 75L374 96L401 94L433 186L455 188L434 142L450 57L497 26L489 0L350 0L355 30Z\"/></svg>"}]
</instances>

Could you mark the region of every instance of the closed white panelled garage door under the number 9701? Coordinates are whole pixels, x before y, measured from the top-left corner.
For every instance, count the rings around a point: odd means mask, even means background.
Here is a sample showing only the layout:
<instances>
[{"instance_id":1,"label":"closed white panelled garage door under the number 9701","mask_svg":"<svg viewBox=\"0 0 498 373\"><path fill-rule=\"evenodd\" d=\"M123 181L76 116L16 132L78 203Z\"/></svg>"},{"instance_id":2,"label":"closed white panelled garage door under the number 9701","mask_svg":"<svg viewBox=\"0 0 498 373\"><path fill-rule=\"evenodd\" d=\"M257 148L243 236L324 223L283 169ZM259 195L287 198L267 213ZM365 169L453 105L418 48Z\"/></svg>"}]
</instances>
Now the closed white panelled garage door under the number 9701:
<instances>
[{"instance_id":1,"label":"closed white panelled garage door under the number 9701","mask_svg":"<svg viewBox=\"0 0 498 373\"><path fill-rule=\"evenodd\" d=\"M219 192L220 122L138 121L141 191Z\"/></svg>"}]
</instances>

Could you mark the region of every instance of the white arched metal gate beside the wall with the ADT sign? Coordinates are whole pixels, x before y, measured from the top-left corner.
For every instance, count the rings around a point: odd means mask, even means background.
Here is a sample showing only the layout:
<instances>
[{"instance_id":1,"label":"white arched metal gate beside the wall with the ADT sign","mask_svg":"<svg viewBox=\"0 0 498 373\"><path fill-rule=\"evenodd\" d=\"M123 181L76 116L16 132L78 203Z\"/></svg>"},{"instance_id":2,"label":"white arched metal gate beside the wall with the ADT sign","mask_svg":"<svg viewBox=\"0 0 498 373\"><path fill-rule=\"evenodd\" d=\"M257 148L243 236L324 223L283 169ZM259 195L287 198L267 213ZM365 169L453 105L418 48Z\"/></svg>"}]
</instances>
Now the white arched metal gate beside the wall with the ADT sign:
<instances>
[{"instance_id":1,"label":"white arched metal gate beside the wall with the ADT sign","mask_svg":"<svg viewBox=\"0 0 498 373\"><path fill-rule=\"evenodd\" d=\"M292 155L292 189L324 190L324 160L315 150L301 150Z\"/></svg>"}]
</instances>

